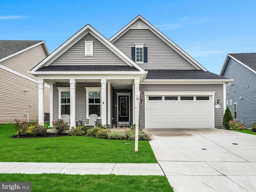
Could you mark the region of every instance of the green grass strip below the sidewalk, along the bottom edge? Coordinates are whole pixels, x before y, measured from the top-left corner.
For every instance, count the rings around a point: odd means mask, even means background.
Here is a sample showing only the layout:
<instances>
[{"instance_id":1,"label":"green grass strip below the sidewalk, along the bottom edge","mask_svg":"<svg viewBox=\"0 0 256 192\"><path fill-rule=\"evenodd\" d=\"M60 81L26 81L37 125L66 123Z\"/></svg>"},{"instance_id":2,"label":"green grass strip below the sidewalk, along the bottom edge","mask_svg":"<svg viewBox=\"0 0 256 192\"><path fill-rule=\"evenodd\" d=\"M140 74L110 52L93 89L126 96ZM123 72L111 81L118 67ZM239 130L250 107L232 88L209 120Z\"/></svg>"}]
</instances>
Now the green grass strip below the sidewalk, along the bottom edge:
<instances>
[{"instance_id":1,"label":"green grass strip below the sidewalk, along the bottom edge","mask_svg":"<svg viewBox=\"0 0 256 192\"><path fill-rule=\"evenodd\" d=\"M173 192L164 176L0 174L0 181L31 182L32 192Z\"/></svg>"}]
</instances>

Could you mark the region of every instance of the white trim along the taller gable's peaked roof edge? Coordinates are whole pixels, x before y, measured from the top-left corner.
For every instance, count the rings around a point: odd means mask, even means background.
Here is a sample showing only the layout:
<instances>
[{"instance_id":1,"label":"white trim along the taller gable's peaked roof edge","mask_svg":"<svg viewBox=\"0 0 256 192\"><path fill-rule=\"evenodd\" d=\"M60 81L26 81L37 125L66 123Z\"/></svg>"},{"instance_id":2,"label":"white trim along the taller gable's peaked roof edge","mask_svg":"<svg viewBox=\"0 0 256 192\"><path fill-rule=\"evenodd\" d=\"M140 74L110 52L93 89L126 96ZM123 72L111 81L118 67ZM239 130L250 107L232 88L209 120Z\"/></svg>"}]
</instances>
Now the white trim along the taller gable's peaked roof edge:
<instances>
[{"instance_id":1,"label":"white trim along the taller gable's peaked roof edge","mask_svg":"<svg viewBox=\"0 0 256 192\"><path fill-rule=\"evenodd\" d=\"M123 34L125 34L128 30L132 29L134 24L142 21L144 26L146 26L150 31L152 31L158 38L160 38L163 42L165 42L168 46L170 46L174 51L180 54L186 61L188 61L191 65L193 65L198 70L208 71L202 65L200 65L195 59L193 59L188 53L182 50L179 46L177 46L172 40L166 37L162 32L160 32L157 28L155 28L150 22L145 20L142 16L138 15L134 20L128 23L124 28L122 28L119 32L117 32L112 38L109 39L110 42L114 43L118 40Z\"/></svg>"}]
</instances>

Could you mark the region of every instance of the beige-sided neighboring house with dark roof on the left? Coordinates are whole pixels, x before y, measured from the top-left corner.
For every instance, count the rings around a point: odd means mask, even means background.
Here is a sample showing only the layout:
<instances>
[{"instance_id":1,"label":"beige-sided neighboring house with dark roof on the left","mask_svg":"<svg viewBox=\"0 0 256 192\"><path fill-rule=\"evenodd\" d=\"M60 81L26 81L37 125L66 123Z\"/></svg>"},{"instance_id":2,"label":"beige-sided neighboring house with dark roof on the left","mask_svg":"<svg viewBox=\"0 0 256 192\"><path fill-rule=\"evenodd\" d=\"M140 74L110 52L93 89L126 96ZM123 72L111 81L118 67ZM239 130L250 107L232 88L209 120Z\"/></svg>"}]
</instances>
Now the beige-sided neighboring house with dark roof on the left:
<instances>
[{"instance_id":1,"label":"beige-sided neighboring house with dark roof on the left","mask_svg":"<svg viewBox=\"0 0 256 192\"><path fill-rule=\"evenodd\" d=\"M44 41L0 40L0 124L38 121L38 80L29 71L48 55ZM45 86L49 113L50 87Z\"/></svg>"}]
</instances>

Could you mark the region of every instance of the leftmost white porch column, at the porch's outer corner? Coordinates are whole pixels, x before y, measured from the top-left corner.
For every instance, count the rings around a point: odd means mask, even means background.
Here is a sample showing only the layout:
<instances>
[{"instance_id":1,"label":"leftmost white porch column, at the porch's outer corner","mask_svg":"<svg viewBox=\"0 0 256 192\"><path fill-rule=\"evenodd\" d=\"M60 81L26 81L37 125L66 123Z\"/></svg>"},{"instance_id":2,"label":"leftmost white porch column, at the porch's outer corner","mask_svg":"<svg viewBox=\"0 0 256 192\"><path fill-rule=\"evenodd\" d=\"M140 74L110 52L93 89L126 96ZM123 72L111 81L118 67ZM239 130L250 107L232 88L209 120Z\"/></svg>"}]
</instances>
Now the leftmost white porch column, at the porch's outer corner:
<instances>
[{"instance_id":1,"label":"leftmost white porch column, at the porch's outer corner","mask_svg":"<svg viewBox=\"0 0 256 192\"><path fill-rule=\"evenodd\" d=\"M38 124L44 125L44 79L38 79Z\"/></svg>"}]
</instances>

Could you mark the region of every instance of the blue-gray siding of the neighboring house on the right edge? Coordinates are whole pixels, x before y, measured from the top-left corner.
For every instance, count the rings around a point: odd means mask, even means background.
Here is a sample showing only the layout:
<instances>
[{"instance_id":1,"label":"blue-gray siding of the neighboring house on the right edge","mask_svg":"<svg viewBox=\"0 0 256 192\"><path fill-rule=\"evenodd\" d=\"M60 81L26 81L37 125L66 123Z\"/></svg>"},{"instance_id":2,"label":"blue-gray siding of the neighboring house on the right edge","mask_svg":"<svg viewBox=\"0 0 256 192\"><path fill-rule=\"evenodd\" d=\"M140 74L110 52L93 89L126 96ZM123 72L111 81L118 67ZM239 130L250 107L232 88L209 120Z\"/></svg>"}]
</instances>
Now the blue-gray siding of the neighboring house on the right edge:
<instances>
[{"instance_id":1,"label":"blue-gray siding of the neighboring house on the right edge","mask_svg":"<svg viewBox=\"0 0 256 192\"><path fill-rule=\"evenodd\" d=\"M234 79L230 82L232 85L226 85L226 100L232 99L232 105L228 105L234 117L234 103L237 103L237 118L249 127L256 121L256 74L234 59L230 58L225 71L224 77ZM247 88L247 85L249 87ZM242 99L239 99L242 97Z\"/></svg>"}]
</instances>

